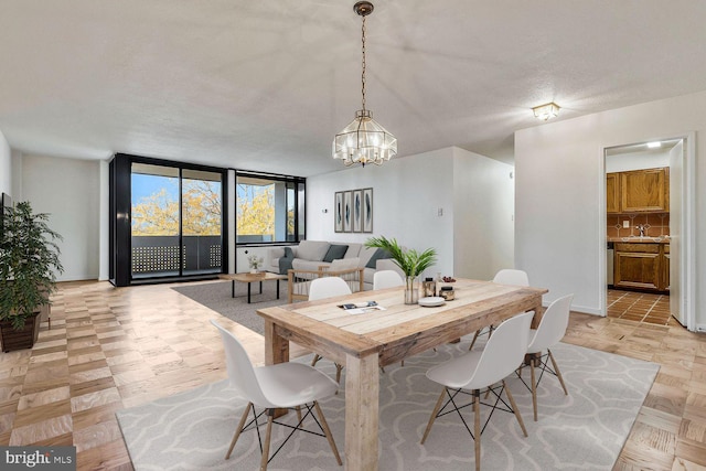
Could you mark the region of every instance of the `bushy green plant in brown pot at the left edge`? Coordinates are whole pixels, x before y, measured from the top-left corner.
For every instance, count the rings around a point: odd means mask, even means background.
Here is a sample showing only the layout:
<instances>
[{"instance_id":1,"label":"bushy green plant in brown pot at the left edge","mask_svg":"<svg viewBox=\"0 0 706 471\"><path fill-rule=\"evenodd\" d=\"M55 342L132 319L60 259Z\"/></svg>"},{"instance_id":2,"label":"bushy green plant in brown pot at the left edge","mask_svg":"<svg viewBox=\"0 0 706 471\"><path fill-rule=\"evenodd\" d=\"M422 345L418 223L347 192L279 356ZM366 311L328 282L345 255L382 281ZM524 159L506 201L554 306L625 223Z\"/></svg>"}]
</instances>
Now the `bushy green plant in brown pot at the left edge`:
<instances>
[{"instance_id":1,"label":"bushy green plant in brown pot at the left edge","mask_svg":"<svg viewBox=\"0 0 706 471\"><path fill-rule=\"evenodd\" d=\"M34 214L29 202L2 212L0 334L4 352L34 345L39 310L50 304L55 274L64 271L54 242L62 237L49 227L47 220L47 214Z\"/></svg>"}]
</instances>

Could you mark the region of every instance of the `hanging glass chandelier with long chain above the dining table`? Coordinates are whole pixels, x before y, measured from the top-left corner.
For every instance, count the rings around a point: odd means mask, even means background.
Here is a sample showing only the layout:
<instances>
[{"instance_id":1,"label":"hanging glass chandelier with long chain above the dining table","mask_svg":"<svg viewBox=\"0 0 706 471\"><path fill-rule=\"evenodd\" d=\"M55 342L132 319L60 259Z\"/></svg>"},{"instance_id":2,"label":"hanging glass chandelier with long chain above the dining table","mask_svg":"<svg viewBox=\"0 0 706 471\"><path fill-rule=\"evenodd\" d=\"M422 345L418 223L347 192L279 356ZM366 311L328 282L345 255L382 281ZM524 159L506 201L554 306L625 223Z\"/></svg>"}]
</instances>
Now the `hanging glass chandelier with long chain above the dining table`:
<instances>
[{"instance_id":1,"label":"hanging glass chandelier with long chain above the dining table","mask_svg":"<svg viewBox=\"0 0 706 471\"><path fill-rule=\"evenodd\" d=\"M360 1L353 11L363 18L363 74L361 75L363 109L355 111L355 119L333 139L333 158L345 167L360 163L381 165L397 154L397 139L373 119L373 111L365 109L365 17L373 12L373 3Z\"/></svg>"}]
</instances>

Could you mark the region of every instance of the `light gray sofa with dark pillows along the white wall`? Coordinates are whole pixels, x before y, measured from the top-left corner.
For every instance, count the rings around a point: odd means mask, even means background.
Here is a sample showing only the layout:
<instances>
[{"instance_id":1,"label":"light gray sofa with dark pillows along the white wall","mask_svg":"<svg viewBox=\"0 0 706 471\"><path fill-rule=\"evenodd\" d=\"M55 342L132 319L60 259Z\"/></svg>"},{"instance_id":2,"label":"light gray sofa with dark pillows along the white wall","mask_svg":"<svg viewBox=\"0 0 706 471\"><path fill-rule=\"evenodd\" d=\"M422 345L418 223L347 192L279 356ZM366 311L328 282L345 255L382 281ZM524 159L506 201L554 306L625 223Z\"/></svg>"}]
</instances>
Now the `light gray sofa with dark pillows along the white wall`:
<instances>
[{"instance_id":1,"label":"light gray sofa with dark pillows along the white wall","mask_svg":"<svg viewBox=\"0 0 706 471\"><path fill-rule=\"evenodd\" d=\"M338 247L332 249L331 246ZM346 248L343 249L341 246L346 246ZM329 266L335 270L364 268L364 289L373 289L373 276L377 270L396 270L402 274L402 270L391 259L379 258L370 263L377 249L365 247L361 243L302 240L299 245L288 247L293 255L291 268L296 270L318 270L321 266ZM332 249L331 253L330 249ZM267 270L280 272L279 261L284 256L285 247L271 247L268 250L268 261L266 261Z\"/></svg>"}]
</instances>

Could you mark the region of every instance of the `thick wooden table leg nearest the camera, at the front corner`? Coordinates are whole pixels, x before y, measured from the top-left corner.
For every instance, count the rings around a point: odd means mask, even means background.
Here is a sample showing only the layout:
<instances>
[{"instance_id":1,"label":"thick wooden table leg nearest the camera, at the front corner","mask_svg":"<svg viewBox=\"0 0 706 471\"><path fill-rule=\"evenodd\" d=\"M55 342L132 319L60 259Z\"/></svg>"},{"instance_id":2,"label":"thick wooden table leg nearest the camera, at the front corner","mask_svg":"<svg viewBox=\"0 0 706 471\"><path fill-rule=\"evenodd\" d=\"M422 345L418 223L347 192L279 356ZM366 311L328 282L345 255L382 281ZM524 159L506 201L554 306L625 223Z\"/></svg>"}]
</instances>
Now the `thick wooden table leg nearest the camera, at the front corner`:
<instances>
[{"instance_id":1,"label":"thick wooden table leg nearest the camera, at the front corner","mask_svg":"<svg viewBox=\"0 0 706 471\"><path fill-rule=\"evenodd\" d=\"M345 360L345 469L377 470L378 355Z\"/></svg>"}]
</instances>

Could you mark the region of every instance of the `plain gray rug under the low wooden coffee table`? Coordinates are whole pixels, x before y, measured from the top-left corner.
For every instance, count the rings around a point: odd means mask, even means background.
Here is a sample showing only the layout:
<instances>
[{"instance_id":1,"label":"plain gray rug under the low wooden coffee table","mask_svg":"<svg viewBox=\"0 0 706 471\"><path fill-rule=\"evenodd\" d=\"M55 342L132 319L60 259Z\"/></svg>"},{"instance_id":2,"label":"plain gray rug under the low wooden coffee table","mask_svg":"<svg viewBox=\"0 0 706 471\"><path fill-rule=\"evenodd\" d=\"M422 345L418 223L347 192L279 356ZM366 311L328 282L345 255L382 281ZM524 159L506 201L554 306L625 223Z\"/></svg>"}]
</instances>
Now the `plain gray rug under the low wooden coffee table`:
<instances>
[{"instance_id":1,"label":"plain gray rug under the low wooden coffee table","mask_svg":"<svg viewBox=\"0 0 706 471\"><path fill-rule=\"evenodd\" d=\"M263 282L261 295L259 283L253 283L249 304L247 303L247 285L243 282L236 281L235 298L231 292L231 281L179 286L172 289L260 335L265 335L265 321L255 311L287 303L287 280L279 282L279 299L277 299L277 281Z\"/></svg>"}]
</instances>

